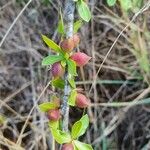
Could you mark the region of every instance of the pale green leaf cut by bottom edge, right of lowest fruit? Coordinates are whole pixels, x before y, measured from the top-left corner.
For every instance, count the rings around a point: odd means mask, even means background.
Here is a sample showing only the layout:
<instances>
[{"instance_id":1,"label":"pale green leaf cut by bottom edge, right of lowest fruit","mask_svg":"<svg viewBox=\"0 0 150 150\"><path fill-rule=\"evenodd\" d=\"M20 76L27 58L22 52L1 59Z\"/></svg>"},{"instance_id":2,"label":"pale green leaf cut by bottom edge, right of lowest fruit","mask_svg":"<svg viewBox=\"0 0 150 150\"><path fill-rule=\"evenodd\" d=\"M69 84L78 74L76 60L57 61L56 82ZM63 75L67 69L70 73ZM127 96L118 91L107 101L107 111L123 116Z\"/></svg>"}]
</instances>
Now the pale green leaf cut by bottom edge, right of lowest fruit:
<instances>
[{"instance_id":1,"label":"pale green leaf cut by bottom edge, right of lowest fruit","mask_svg":"<svg viewBox=\"0 0 150 150\"><path fill-rule=\"evenodd\" d=\"M75 146L79 150L93 150L92 146L86 143L79 142L77 140L74 141Z\"/></svg>"}]
</instances>

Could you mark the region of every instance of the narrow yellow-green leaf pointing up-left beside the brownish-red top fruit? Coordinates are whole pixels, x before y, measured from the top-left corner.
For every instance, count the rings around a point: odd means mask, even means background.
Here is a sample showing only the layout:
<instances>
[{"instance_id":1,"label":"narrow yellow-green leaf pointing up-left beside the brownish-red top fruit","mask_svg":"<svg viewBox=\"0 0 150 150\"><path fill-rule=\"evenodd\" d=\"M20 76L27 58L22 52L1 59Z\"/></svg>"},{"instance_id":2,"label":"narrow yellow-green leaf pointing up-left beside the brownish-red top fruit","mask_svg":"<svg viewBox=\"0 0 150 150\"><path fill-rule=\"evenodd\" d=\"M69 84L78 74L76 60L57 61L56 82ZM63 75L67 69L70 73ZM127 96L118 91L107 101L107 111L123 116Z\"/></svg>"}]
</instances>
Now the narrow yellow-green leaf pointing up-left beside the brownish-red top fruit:
<instances>
[{"instance_id":1,"label":"narrow yellow-green leaf pointing up-left beside the brownish-red top fruit","mask_svg":"<svg viewBox=\"0 0 150 150\"><path fill-rule=\"evenodd\" d=\"M52 41L51 39L49 39L47 36L42 35L42 39L43 41L46 43L46 45L53 49L55 52L60 52L61 48L59 45L57 45L54 41Z\"/></svg>"}]
</instances>

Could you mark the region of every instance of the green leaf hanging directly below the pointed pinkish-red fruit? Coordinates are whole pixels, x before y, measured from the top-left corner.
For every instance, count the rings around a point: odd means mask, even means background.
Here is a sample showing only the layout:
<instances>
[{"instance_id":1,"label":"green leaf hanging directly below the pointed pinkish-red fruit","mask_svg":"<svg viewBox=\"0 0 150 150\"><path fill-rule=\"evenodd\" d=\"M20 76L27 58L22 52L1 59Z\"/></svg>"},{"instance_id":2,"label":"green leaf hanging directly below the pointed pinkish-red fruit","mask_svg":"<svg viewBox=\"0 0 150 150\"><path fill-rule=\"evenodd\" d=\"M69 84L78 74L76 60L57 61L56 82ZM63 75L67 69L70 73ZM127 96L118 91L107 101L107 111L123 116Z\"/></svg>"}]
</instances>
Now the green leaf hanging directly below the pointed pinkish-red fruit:
<instances>
[{"instance_id":1,"label":"green leaf hanging directly below the pointed pinkish-red fruit","mask_svg":"<svg viewBox=\"0 0 150 150\"><path fill-rule=\"evenodd\" d=\"M76 63L73 60L68 59L67 65L69 74L71 74L72 76L77 76Z\"/></svg>"}]
</instances>

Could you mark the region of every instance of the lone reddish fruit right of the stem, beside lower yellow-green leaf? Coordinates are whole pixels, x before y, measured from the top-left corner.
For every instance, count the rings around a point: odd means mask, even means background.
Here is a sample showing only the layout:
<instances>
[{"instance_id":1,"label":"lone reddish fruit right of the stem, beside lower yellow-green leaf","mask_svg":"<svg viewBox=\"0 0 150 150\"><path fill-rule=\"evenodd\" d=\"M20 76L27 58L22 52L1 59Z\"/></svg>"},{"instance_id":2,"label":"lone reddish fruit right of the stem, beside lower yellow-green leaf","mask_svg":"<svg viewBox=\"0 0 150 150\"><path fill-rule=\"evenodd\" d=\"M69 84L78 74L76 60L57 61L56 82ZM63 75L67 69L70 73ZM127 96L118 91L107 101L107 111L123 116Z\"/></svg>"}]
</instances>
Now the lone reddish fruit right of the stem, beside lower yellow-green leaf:
<instances>
[{"instance_id":1,"label":"lone reddish fruit right of the stem, beside lower yellow-green leaf","mask_svg":"<svg viewBox=\"0 0 150 150\"><path fill-rule=\"evenodd\" d=\"M89 106L89 101L83 94L78 93L76 97L76 105L79 108L86 108L87 106Z\"/></svg>"}]
</instances>

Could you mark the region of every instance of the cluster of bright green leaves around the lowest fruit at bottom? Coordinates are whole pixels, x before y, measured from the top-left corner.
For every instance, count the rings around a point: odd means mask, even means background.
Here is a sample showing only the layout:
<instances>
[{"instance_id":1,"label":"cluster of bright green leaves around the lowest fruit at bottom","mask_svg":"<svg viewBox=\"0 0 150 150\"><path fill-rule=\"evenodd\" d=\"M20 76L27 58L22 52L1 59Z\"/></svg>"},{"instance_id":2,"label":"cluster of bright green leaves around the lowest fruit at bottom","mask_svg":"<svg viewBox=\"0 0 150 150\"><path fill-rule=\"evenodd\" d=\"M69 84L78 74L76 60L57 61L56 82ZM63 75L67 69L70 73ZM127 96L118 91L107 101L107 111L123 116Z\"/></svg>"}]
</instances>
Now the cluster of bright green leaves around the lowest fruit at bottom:
<instances>
[{"instance_id":1,"label":"cluster of bright green leaves around the lowest fruit at bottom","mask_svg":"<svg viewBox=\"0 0 150 150\"><path fill-rule=\"evenodd\" d=\"M89 118L87 115L84 115L79 121L77 121L71 129L71 135L68 132L63 132L58 129L58 123L49 122L49 127L54 139L59 144L72 143L75 146L76 150L93 150L89 144L85 144L77 141L76 139L83 135L89 125Z\"/></svg>"}]
</instances>

